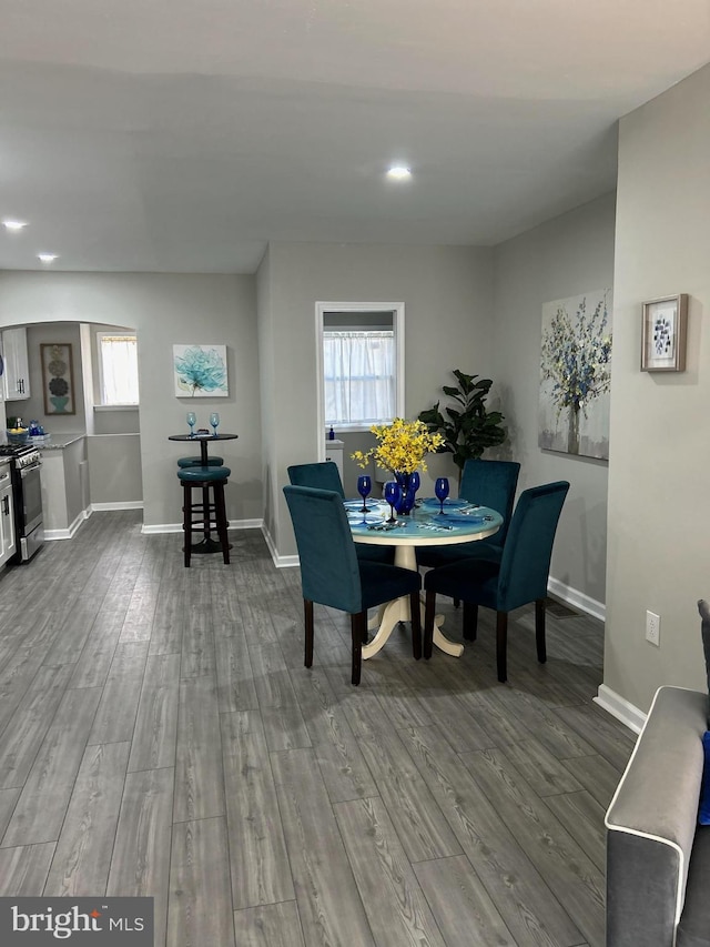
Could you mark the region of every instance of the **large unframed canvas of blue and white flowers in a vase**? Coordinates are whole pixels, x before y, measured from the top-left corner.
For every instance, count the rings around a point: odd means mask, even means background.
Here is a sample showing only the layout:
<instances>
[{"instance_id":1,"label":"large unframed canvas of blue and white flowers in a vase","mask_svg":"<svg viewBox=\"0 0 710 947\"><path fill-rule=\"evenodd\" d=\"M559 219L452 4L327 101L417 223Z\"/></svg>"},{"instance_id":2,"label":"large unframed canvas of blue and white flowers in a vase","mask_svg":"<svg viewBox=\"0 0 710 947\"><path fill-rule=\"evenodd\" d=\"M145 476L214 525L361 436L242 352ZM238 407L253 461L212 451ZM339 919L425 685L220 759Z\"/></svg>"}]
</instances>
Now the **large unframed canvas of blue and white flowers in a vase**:
<instances>
[{"instance_id":1,"label":"large unframed canvas of blue and white flowers in a vase","mask_svg":"<svg viewBox=\"0 0 710 947\"><path fill-rule=\"evenodd\" d=\"M611 290L542 305L538 444L609 459Z\"/></svg>"}]
</instances>

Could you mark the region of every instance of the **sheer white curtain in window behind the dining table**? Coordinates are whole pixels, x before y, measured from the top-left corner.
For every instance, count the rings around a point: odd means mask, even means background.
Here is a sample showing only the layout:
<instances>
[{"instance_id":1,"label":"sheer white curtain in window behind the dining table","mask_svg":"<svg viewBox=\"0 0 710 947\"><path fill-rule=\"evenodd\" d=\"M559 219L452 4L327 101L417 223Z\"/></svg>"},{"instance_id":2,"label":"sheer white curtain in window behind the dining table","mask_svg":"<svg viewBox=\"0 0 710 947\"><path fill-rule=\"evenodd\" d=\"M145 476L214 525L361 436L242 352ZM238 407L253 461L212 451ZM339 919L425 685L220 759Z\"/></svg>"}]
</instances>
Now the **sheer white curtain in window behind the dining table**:
<instances>
[{"instance_id":1,"label":"sheer white curtain in window behind the dining table","mask_svg":"<svg viewBox=\"0 0 710 947\"><path fill-rule=\"evenodd\" d=\"M395 416L392 331L327 330L323 335L325 423L376 424Z\"/></svg>"}]
</instances>

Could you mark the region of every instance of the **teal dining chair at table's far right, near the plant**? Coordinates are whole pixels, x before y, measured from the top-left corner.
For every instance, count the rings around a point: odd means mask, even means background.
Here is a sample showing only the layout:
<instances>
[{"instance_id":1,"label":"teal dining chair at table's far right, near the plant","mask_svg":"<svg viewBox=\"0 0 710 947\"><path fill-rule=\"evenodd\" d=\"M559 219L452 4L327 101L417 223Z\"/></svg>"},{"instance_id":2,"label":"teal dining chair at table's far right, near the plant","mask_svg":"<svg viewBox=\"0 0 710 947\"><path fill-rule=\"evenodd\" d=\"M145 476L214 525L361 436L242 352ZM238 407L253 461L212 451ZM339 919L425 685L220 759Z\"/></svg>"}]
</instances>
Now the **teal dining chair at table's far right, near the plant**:
<instances>
[{"instance_id":1,"label":"teal dining chair at table's far right, near the plant","mask_svg":"<svg viewBox=\"0 0 710 947\"><path fill-rule=\"evenodd\" d=\"M456 546L417 546L417 565L437 568L465 558L500 562L510 525L520 464L516 461L468 460L464 464L458 495L462 500L489 506L503 516L497 533L475 543Z\"/></svg>"}]
</instances>

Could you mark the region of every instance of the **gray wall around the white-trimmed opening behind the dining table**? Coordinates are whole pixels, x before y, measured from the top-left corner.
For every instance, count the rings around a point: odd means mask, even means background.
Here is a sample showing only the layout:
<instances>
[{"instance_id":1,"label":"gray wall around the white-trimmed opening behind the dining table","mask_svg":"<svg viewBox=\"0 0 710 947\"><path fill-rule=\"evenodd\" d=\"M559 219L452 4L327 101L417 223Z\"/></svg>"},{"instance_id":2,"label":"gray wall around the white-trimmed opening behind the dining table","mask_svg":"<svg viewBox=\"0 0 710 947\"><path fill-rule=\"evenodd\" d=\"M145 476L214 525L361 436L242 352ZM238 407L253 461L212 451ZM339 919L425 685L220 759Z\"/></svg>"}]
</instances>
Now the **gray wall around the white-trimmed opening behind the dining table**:
<instances>
[{"instance_id":1,"label":"gray wall around the white-trimmed opening behind the dining table","mask_svg":"<svg viewBox=\"0 0 710 947\"><path fill-rule=\"evenodd\" d=\"M316 301L404 301L405 409L416 417L450 381L452 369L490 371L491 256L488 249L465 246L271 244L258 283L260 347L262 391L275 391L264 439L266 518L280 555L295 553L281 493L286 466L316 457L323 437L316 424ZM267 303L261 300L264 282ZM434 475L442 469L453 473L448 457L435 459Z\"/></svg>"}]
</instances>

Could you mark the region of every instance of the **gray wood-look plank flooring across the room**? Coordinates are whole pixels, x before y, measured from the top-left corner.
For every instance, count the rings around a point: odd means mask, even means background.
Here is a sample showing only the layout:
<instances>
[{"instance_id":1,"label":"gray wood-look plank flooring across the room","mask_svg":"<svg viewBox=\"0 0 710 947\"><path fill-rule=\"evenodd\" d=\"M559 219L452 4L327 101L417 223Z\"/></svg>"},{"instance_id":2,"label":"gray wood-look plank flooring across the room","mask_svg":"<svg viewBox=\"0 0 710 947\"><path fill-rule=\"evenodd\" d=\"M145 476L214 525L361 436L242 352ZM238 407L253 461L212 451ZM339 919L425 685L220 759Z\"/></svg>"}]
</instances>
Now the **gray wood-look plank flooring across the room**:
<instances>
[{"instance_id":1,"label":"gray wood-look plank flooring across the room","mask_svg":"<svg viewBox=\"0 0 710 947\"><path fill-rule=\"evenodd\" d=\"M95 513L0 576L0 894L150 895L156 947L598 947L604 812L633 735L595 704L602 628L530 608L498 684L404 629L349 684L347 616L257 531ZM445 629L460 613L440 600Z\"/></svg>"}]
</instances>

